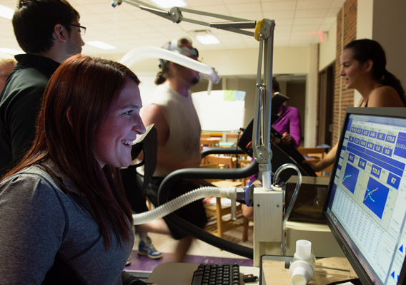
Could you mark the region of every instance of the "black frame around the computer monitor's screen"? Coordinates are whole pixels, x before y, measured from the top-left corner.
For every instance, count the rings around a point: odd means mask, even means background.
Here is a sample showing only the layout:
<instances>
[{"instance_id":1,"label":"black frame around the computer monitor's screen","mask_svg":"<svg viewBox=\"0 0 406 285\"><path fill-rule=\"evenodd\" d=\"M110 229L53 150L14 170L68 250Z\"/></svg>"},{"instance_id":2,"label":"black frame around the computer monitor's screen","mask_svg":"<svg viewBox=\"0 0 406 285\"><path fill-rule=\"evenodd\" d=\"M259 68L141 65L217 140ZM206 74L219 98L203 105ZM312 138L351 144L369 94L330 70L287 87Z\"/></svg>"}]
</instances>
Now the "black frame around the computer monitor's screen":
<instances>
[{"instance_id":1,"label":"black frame around the computer monitor's screen","mask_svg":"<svg viewBox=\"0 0 406 285\"><path fill-rule=\"evenodd\" d=\"M355 255L354 252L352 252L352 249L350 245L347 243L345 240L345 237L339 232L339 229L335 225L335 223L330 219L329 215L327 214L327 207L329 206L329 201L330 201L330 196L332 194L332 186L334 185L334 180L335 180L335 172L337 170L337 165L340 160L340 152L338 150L341 150L342 148L342 142L344 141L344 135L345 131L347 130L346 126L348 123L348 119L350 115L374 115L374 116L381 116L381 117L390 117L390 118L406 118L406 108L355 108L355 107L350 107L347 108L346 113L345 113L345 120L342 123L342 130L340 134L340 140L338 142L337 146L337 153L335 156L335 162L332 167L332 172L330 175L330 182L327 190L327 199L325 202L325 207L323 209L323 214L325 216L325 220L327 222L328 227L330 228L333 236L337 240L338 244L340 245L340 248L342 249L342 252L345 254L345 257L347 257L348 261L350 261L350 264L352 268L354 269L355 273L357 274L358 278L360 279L362 284L374 284L370 276L367 274L365 271L364 267L362 266L361 262L358 260L357 256ZM399 281L397 284L402 284L402 280L405 279L406 276L406 262L403 262L402 265L402 270L400 271L400 277Z\"/></svg>"}]
</instances>

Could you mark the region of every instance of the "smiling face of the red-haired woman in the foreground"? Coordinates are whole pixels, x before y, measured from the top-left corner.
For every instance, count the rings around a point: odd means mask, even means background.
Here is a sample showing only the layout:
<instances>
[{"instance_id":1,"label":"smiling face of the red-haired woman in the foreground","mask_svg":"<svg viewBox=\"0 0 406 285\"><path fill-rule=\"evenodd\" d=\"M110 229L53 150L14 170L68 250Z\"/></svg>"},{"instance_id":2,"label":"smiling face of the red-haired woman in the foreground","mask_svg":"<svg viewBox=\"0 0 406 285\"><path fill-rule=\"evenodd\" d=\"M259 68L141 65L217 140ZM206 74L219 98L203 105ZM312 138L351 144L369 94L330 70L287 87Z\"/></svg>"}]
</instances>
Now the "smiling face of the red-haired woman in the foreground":
<instances>
[{"instance_id":1,"label":"smiling face of the red-haired woman in the foreground","mask_svg":"<svg viewBox=\"0 0 406 285\"><path fill-rule=\"evenodd\" d=\"M109 108L96 135L94 156L100 167L127 167L132 161L132 142L145 132L139 116L142 101L137 84L127 79L119 97Z\"/></svg>"}]
</instances>

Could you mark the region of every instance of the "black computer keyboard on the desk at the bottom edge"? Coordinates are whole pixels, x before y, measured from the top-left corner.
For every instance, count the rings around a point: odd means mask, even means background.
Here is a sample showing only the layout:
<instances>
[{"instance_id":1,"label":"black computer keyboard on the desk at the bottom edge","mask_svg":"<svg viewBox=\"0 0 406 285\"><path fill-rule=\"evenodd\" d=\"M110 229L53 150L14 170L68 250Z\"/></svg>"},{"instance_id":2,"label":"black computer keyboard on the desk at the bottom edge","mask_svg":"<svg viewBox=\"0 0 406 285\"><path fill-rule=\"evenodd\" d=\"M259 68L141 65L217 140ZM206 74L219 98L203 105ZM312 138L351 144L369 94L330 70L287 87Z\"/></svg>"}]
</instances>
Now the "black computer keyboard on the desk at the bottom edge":
<instances>
[{"instance_id":1,"label":"black computer keyboard on the desk at the bottom edge","mask_svg":"<svg viewBox=\"0 0 406 285\"><path fill-rule=\"evenodd\" d=\"M191 285L239 285L239 264L199 264Z\"/></svg>"}]
</instances>

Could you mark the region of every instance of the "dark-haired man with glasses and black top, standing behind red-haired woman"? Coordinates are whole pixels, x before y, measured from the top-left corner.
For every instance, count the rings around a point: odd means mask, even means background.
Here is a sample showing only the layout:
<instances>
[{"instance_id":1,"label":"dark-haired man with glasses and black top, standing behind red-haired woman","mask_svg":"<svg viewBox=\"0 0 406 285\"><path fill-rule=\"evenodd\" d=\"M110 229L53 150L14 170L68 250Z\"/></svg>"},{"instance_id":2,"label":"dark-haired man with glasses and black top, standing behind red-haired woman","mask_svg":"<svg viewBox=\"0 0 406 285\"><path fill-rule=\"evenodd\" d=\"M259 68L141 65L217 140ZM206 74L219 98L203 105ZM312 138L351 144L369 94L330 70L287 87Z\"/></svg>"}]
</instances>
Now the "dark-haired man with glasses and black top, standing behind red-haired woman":
<instances>
[{"instance_id":1,"label":"dark-haired man with glasses and black top, standing behind red-haired woman","mask_svg":"<svg viewBox=\"0 0 406 285\"><path fill-rule=\"evenodd\" d=\"M17 8L14 34L26 54L15 56L0 95L0 176L31 146L46 83L62 61L81 53L86 31L66 0L21 0Z\"/></svg>"}]
</instances>

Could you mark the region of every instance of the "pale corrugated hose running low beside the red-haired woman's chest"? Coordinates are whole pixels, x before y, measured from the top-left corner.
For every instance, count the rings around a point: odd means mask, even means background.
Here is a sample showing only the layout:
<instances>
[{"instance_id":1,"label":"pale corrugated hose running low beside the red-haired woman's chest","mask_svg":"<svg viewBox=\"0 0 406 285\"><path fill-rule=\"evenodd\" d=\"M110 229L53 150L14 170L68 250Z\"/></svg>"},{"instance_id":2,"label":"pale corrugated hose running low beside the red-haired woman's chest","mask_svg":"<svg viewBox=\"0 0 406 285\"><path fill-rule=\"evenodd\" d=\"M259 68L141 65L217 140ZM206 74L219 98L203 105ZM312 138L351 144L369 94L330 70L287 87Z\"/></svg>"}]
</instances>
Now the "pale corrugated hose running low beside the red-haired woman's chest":
<instances>
[{"instance_id":1,"label":"pale corrugated hose running low beside the red-haired woman's chest","mask_svg":"<svg viewBox=\"0 0 406 285\"><path fill-rule=\"evenodd\" d=\"M154 219L162 218L167 214L170 214L180 207L184 207L189 203L192 203L198 199L205 197L225 197L229 199L235 199L237 197L237 187L201 187L191 192L179 196L151 211L133 214L134 225L145 224L151 222Z\"/></svg>"}]
</instances>

